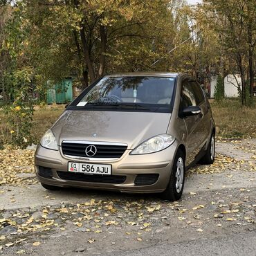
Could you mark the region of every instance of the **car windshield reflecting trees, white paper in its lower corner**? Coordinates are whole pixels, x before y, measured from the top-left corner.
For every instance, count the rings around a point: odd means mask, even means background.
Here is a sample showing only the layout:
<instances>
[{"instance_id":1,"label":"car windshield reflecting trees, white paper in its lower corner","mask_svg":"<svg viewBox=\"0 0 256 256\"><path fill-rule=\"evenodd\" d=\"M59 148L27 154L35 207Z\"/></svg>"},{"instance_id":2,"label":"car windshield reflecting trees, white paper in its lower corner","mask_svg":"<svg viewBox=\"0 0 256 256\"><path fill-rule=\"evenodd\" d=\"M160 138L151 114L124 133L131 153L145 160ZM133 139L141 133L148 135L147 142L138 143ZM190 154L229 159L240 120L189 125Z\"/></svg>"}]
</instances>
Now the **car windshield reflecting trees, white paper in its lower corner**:
<instances>
[{"instance_id":1,"label":"car windshield reflecting trees, white paper in its lower corner","mask_svg":"<svg viewBox=\"0 0 256 256\"><path fill-rule=\"evenodd\" d=\"M173 77L104 77L76 106L170 109L174 81Z\"/></svg>"}]
</instances>

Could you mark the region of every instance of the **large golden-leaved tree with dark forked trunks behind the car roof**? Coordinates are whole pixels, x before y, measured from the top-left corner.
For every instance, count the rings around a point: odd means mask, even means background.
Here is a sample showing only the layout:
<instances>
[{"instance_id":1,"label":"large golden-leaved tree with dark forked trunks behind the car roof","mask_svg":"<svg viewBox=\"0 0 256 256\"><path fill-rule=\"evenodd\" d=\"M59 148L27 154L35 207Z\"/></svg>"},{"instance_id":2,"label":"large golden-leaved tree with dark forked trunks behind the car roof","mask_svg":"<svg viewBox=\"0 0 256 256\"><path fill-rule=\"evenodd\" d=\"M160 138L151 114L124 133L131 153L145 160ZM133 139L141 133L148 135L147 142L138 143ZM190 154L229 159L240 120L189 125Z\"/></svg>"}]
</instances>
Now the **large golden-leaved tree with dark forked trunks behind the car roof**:
<instances>
[{"instance_id":1,"label":"large golden-leaved tree with dark forked trunks behind the car roof","mask_svg":"<svg viewBox=\"0 0 256 256\"><path fill-rule=\"evenodd\" d=\"M44 72L36 67L42 75L51 77L57 71L63 77L69 70L82 77L84 87L107 70L126 66L135 71L154 61L154 46L163 50L161 35L168 32L170 17L167 4L166 0L26 1L31 59L35 67L42 66Z\"/></svg>"}]
</instances>

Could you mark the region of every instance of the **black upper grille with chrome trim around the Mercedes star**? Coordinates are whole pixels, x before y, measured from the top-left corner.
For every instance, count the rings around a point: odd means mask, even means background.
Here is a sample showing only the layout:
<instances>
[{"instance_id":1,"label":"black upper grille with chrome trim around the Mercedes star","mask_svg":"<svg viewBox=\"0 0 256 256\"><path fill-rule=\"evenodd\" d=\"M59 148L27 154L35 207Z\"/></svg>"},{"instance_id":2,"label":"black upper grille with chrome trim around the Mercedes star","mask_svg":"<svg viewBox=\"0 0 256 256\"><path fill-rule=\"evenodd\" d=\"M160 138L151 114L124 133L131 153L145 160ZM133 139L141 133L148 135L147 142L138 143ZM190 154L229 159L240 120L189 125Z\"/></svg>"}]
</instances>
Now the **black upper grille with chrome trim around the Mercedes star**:
<instances>
[{"instance_id":1,"label":"black upper grille with chrome trim around the Mercedes star","mask_svg":"<svg viewBox=\"0 0 256 256\"><path fill-rule=\"evenodd\" d=\"M93 145L97 152L94 156L87 156L86 147ZM62 152L68 156L82 156L93 158L120 158L124 154L127 146L125 145L97 145L89 143L62 143Z\"/></svg>"}]
</instances>

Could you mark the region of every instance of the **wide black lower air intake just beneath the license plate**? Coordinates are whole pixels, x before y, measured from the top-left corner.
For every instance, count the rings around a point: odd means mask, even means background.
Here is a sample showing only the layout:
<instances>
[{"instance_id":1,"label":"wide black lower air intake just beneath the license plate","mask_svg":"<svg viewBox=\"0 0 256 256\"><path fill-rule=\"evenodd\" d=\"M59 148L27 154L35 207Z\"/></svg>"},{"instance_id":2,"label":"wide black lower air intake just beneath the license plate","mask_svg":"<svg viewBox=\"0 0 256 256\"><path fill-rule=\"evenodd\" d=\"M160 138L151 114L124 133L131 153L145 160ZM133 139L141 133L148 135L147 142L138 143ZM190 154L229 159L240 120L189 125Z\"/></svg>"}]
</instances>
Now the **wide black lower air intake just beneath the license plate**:
<instances>
[{"instance_id":1,"label":"wide black lower air intake just beneath the license plate","mask_svg":"<svg viewBox=\"0 0 256 256\"><path fill-rule=\"evenodd\" d=\"M94 183L112 183L112 184L121 184L126 180L126 176L121 175L88 175L75 172L59 172L57 171L60 179L68 181L84 181L84 182L94 182Z\"/></svg>"}]
</instances>

